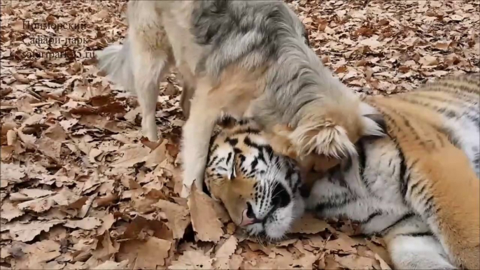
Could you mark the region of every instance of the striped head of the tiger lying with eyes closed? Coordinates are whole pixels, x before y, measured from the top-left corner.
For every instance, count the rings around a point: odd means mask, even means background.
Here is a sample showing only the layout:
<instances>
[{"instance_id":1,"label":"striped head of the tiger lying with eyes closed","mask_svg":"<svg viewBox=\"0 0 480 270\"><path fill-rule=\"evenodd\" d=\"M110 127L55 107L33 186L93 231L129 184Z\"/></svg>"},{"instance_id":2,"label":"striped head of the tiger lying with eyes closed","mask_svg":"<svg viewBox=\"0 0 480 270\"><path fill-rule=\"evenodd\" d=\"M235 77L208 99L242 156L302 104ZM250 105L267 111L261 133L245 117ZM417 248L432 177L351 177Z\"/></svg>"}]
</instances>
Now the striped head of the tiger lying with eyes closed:
<instances>
[{"instance_id":1,"label":"striped head of the tiger lying with eyes closed","mask_svg":"<svg viewBox=\"0 0 480 270\"><path fill-rule=\"evenodd\" d=\"M274 154L250 119L223 118L211 138L204 190L250 235L281 239L304 213L293 159Z\"/></svg>"}]
</instances>

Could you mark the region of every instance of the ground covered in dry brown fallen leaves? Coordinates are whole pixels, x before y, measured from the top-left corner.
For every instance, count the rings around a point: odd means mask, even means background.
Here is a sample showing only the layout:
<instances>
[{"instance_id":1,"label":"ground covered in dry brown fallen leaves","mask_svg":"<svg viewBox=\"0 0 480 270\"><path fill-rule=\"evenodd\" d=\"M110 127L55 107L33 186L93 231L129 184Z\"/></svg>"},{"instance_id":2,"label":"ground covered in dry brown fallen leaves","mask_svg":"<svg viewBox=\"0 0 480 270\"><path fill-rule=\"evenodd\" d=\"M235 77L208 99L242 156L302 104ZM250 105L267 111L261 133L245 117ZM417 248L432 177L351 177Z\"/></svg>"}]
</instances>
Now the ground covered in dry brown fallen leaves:
<instances>
[{"instance_id":1,"label":"ground covered in dry brown fallen leaves","mask_svg":"<svg viewBox=\"0 0 480 270\"><path fill-rule=\"evenodd\" d=\"M289 1L311 47L359 94L479 71L474 1ZM388 269L381 239L306 216L288 239L248 239L201 193L178 198L184 119L162 83L162 139L92 52L122 41L125 1L1 2L2 269ZM50 23L46 28L41 27Z\"/></svg>"}]
</instances>

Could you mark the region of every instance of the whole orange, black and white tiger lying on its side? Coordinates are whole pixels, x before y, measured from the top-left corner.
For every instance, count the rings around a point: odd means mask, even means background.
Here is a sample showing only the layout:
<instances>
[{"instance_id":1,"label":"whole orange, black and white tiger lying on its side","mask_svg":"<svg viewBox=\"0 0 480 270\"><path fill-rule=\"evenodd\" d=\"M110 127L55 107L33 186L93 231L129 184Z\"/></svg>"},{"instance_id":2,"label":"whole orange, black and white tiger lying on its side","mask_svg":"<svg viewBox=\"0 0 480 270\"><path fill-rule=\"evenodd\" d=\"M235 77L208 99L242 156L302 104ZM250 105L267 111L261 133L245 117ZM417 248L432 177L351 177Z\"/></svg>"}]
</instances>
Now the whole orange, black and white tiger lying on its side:
<instances>
[{"instance_id":1,"label":"whole orange, black and white tiger lying on its side","mask_svg":"<svg viewBox=\"0 0 480 270\"><path fill-rule=\"evenodd\" d=\"M249 234L281 239L305 211L386 241L395 269L480 269L480 75L362 97L387 136L363 136L305 190L298 162L241 119L212 138L206 190Z\"/></svg>"}]
</instances>

